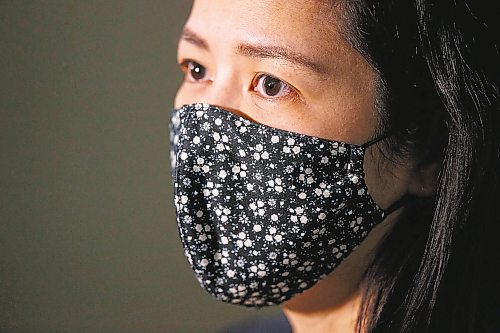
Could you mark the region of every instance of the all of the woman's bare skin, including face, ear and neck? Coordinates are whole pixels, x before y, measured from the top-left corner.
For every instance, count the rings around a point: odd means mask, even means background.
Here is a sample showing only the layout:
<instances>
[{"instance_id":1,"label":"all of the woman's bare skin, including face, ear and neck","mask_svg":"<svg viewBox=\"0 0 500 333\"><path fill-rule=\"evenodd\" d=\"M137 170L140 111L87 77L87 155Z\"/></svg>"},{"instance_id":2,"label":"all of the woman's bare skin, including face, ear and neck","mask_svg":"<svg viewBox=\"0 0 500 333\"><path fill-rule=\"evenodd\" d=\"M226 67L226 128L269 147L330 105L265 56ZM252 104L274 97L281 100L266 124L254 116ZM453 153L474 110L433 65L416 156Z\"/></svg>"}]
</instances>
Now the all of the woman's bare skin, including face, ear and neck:
<instances>
[{"instance_id":1,"label":"all of the woman's bare skin, including face, ear and neck","mask_svg":"<svg viewBox=\"0 0 500 333\"><path fill-rule=\"evenodd\" d=\"M179 40L186 77L175 107L204 102L325 139L363 144L375 138L377 73L343 40L341 23L321 1L196 0ZM283 82L278 94L268 94L266 75ZM364 163L368 189L382 208L405 194L430 195L433 188L430 169L415 161L394 163L371 147ZM294 332L354 331L359 282L399 213L328 277L283 304Z\"/></svg>"}]
</instances>

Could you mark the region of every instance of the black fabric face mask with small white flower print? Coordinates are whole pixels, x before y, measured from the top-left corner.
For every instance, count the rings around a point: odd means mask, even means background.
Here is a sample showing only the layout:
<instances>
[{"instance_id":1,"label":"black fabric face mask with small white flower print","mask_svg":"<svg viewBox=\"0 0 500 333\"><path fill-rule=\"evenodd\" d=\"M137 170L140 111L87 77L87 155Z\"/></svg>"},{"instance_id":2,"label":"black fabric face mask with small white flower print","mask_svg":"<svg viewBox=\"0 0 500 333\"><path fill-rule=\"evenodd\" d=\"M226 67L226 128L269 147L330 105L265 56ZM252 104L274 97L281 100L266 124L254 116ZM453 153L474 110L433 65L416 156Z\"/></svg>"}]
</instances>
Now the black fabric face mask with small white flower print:
<instances>
[{"instance_id":1,"label":"black fabric face mask with small white flower print","mask_svg":"<svg viewBox=\"0 0 500 333\"><path fill-rule=\"evenodd\" d=\"M387 211L366 148L279 130L207 104L174 110L177 224L200 284L245 306L282 303L330 273Z\"/></svg>"}]
</instances>

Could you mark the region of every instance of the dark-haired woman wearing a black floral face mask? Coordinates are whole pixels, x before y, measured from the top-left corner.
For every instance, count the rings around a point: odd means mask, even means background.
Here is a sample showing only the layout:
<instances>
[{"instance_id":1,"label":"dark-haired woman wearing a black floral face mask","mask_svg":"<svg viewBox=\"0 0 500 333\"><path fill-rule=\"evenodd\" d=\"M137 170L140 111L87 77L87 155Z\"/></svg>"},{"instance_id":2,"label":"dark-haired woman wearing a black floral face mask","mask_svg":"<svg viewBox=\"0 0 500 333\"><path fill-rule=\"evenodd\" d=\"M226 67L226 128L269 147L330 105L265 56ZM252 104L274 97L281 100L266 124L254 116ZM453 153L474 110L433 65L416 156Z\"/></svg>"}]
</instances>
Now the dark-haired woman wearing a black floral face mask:
<instances>
[{"instance_id":1,"label":"dark-haired woman wearing a black floral face mask","mask_svg":"<svg viewBox=\"0 0 500 333\"><path fill-rule=\"evenodd\" d=\"M172 162L201 285L281 304L298 333L497 332L492 18L442 0L195 1Z\"/></svg>"}]
</instances>

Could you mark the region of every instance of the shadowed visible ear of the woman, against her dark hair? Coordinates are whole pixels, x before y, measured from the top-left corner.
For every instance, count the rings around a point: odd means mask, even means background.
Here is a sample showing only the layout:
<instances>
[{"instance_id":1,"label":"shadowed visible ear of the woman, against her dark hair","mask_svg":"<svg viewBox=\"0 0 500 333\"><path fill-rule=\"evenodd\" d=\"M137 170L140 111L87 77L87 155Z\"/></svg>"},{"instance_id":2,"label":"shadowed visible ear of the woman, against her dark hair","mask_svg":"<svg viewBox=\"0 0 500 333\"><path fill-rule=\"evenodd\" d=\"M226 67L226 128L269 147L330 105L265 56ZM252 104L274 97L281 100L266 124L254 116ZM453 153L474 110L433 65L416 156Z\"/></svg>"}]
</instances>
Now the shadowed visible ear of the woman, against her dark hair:
<instances>
[{"instance_id":1,"label":"shadowed visible ear of the woman, against her dark hair","mask_svg":"<svg viewBox=\"0 0 500 333\"><path fill-rule=\"evenodd\" d=\"M436 193L441 164L439 162L426 163L415 168L412 174L408 194L417 197L432 197Z\"/></svg>"}]
</instances>

